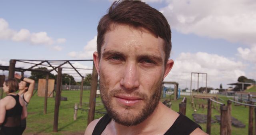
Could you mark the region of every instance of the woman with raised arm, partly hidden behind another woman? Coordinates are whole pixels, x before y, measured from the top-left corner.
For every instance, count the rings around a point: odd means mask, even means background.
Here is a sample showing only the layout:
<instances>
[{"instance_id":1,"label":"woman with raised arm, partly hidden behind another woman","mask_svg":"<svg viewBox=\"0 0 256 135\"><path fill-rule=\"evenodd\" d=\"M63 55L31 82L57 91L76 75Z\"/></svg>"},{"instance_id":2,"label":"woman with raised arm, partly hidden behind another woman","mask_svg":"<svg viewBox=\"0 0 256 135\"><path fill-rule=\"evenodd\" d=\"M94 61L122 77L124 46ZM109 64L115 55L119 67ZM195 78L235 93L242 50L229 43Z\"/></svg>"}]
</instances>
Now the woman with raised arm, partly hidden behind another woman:
<instances>
[{"instance_id":1,"label":"woman with raised arm, partly hidden behind another woman","mask_svg":"<svg viewBox=\"0 0 256 135\"><path fill-rule=\"evenodd\" d=\"M35 81L29 78L21 77L18 73L15 73L15 78L20 79L19 83L19 93L20 97L24 100L25 105L28 106L28 103L33 95ZM26 129L26 119L21 121L21 132Z\"/></svg>"}]
</instances>

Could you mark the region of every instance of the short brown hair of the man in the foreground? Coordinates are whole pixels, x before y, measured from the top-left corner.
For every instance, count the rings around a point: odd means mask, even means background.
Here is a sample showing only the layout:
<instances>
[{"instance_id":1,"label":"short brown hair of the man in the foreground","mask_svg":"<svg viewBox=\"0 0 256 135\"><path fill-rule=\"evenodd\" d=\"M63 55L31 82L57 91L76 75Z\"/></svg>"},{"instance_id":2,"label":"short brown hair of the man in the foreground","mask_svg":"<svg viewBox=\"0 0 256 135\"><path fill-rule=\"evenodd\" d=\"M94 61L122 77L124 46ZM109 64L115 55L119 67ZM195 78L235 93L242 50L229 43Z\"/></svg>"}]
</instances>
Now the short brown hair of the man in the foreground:
<instances>
[{"instance_id":1,"label":"short brown hair of the man in the foreground","mask_svg":"<svg viewBox=\"0 0 256 135\"><path fill-rule=\"evenodd\" d=\"M165 64L172 48L171 29L166 18L158 10L139 0L119 0L113 2L98 24L97 51L101 53L105 33L110 24L127 24L135 28L146 28L152 34L164 40Z\"/></svg>"}]
</instances>

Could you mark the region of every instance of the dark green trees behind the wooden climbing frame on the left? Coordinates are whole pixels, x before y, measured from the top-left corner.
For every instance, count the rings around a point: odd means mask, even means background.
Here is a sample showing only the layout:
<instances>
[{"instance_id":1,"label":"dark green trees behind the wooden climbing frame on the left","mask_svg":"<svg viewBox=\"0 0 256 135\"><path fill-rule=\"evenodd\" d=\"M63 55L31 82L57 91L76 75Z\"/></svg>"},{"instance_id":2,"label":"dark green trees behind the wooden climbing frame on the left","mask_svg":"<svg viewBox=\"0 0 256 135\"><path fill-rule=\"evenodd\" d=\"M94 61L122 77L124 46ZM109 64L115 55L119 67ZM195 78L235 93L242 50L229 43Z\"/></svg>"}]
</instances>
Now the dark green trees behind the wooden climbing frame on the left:
<instances>
[{"instance_id":1,"label":"dark green trees behind the wooden climbing frame on the left","mask_svg":"<svg viewBox=\"0 0 256 135\"><path fill-rule=\"evenodd\" d=\"M43 71L48 71L46 67L38 67L37 69L43 70ZM29 77L31 79L34 79L36 83L38 83L38 79L45 79L46 74L45 73L40 73L36 71L31 71L31 76ZM70 79L69 79L70 78ZM49 73L49 79L57 79L57 74L54 75L52 73ZM69 84L70 80L70 85L81 85L81 81L75 81L74 77L72 75L69 75L67 73L62 74L62 84ZM91 85L91 80L92 80L92 74L87 73L86 76L84 77L84 86L90 86ZM56 81L55 81L56 84Z\"/></svg>"}]
</instances>

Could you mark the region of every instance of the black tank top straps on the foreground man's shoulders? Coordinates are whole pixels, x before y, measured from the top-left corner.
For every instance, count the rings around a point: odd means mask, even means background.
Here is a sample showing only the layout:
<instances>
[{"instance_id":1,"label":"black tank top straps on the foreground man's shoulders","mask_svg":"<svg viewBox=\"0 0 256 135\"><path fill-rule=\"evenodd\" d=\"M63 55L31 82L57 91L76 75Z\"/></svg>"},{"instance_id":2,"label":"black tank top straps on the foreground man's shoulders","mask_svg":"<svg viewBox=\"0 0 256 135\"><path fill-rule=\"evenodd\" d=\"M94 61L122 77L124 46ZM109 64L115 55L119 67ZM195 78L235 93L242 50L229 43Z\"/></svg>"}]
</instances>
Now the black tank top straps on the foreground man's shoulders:
<instances>
[{"instance_id":1,"label":"black tank top straps on the foreground man's shoulders","mask_svg":"<svg viewBox=\"0 0 256 135\"><path fill-rule=\"evenodd\" d=\"M202 129L200 125L182 115L182 113L179 114L179 117L174 121L173 125L166 131L166 133L164 133L164 135L189 135L198 127ZM94 127L92 135L101 135L110 121L111 118L108 114L104 115Z\"/></svg>"}]
</instances>

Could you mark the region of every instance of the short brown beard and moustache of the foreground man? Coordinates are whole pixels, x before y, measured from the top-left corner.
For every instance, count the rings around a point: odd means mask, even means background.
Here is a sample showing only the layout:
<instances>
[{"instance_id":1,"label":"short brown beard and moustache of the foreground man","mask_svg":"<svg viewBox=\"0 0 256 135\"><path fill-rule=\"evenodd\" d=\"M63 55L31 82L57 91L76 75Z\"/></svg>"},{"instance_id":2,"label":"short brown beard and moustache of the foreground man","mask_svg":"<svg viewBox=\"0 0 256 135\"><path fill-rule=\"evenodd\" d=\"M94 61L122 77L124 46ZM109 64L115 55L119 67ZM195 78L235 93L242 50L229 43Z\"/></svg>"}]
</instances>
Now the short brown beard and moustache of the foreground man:
<instances>
[{"instance_id":1,"label":"short brown beard and moustache of the foreground man","mask_svg":"<svg viewBox=\"0 0 256 135\"><path fill-rule=\"evenodd\" d=\"M102 76L103 77L103 76ZM121 93L127 93L124 89L108 89L108 84L105 81L104 77L100 78L100 96L102 99L102 102L104 104L104 107L106 108L108 115L117 123L124 125L124 126L134 126L138 125L139 123L146 120L156 109L160 97L161 97L161 89L162 89L162 81L159 81L150 89L151 95L148 96L146 93L141 93L138 91L132 91L129 93L136 97L141 97L144 101L144 105L140 109L136 109L133 106L122 106L125 109L125 113L118 113L113 103L113 97L115 95L121 94ZM138 111L134 112L134 111Z\"/></svg>"}]
</instances>

